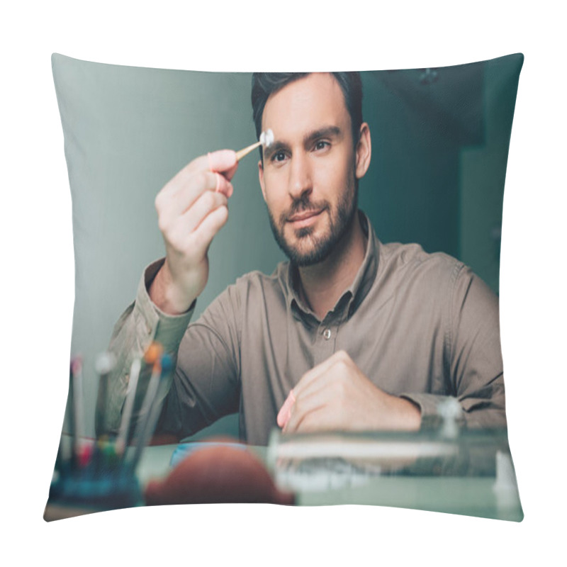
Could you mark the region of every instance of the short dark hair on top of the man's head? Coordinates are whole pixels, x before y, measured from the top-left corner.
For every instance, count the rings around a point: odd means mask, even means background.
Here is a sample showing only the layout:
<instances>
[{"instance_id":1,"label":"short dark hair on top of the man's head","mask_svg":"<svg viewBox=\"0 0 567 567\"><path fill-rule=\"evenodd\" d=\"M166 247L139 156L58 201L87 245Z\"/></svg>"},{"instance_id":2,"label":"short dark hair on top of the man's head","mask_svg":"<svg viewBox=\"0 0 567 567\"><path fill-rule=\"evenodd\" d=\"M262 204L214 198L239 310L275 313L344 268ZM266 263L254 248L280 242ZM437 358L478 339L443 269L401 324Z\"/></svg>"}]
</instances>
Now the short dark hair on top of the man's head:
<instances>
[{"instance_id":1,"label":"short dark hair on top of the man's head","mask_svg":"<svg viewBox=\"0 0 567 567\"><path fill-rule=\"evenodd\" d=\"M256 126L256 136L262 133L262 114L268 97L286 84L307 77L310 73L252 73L252 117ZM359 72L332 73L344 94L344 102L352 123L352 140L359 141L362 123L362 81Z\"/></svg>"}]
</instances>

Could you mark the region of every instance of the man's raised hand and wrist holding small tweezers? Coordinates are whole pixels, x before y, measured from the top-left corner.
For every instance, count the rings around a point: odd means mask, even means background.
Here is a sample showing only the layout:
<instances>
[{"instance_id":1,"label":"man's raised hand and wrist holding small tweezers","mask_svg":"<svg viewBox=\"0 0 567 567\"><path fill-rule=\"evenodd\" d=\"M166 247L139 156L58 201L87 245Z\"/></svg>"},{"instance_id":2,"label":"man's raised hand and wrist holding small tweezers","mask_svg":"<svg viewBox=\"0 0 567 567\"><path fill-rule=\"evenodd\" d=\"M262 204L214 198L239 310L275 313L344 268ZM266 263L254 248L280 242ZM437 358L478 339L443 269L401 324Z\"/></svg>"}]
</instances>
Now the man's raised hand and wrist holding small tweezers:
<instances>
[{"instance_id":1,"label":"man's raised hand and wrist holding small tweezers","mask_svg":"<svg viewBox=\"0 0 567 567\"><path fill-rule=\"evenodd\" d=\"M228 220L230 179L237 167L232 150L198 157L157 194L155 208L166 257L149 293L164 313L184 313L205 288L208 247Z\"/></svg>"}]
</instances>

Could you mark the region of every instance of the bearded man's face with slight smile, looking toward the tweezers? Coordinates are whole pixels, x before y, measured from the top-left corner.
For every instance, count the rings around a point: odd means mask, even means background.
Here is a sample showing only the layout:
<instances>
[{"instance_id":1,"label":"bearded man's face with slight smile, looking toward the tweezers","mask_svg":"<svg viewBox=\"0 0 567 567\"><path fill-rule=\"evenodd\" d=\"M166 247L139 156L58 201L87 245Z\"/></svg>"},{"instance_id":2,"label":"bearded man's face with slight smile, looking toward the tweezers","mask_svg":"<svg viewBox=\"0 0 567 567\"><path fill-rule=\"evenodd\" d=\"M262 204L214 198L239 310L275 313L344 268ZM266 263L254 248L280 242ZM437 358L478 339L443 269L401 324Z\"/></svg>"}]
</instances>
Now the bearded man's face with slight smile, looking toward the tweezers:
<instances>
[{"instance_id":1,"label":"bearded man's face with slight smile, looking toward the tweezers","mask_svg":"<svg viewBox=\"0 0 567 567\"><path fill-rule=\"evenodd\" d=\"M335 77L310 74L269 96L268 128L275 140L264 148L259 177L274 237L299 266L317 264L357 212L357 154Z\"/></svg>"}]
</instances>

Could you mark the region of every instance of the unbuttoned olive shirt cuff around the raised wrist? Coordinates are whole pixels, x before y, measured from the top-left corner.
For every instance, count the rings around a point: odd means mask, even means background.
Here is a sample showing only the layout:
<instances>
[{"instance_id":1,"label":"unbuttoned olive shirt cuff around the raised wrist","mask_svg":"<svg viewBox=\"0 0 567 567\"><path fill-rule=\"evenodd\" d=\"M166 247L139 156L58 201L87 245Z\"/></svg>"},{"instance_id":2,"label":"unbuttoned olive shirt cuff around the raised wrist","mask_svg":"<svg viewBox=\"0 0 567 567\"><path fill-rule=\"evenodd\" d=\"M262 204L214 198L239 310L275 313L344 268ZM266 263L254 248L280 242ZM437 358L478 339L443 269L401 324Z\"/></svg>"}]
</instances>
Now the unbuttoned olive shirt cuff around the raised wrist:
<instances>
[{"instance_id":1,"label":"unbuttoned olive shirt cuff around the raised wrist","mask_svg":"<svg viewBox=\"0 0 567 567\"><path fill-rule=\"evenodd\" d=\"M152 302L147 289L164 261L164 258L159 259L144 270L137 287L133 316L138 333L147 337L148 344L151 341L159 342L165 352L176 353L195 310L196 301L181 315L168 315Z\"/></svg>"}]
</instances>

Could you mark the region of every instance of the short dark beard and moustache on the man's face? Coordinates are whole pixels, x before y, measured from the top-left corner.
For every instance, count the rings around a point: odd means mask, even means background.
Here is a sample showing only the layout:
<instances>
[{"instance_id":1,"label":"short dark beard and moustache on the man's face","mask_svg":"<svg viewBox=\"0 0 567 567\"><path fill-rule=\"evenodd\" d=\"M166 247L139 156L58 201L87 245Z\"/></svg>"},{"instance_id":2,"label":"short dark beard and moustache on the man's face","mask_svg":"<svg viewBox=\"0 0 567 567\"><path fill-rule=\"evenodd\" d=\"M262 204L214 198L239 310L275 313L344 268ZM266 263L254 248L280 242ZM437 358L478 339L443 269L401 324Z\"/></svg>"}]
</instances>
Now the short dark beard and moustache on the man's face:
<instances>
[{"instance_id":1,"label":"short dark beard and moustache on the man's face","mask_svg":"<svg viewBox=\"0 0 567 567\"><path fill-rule=\"evenodd\" d=\"M353 191L344 191L337 207L333 210L328 201L310 201L309 194L293 201L291 208L280 215L276 222L268 208L271 232L278 246L296 266L313 266L327 259L352 226L358 210L358 179L354 180ZM305 210L321 210L329 216L328 230L324 235L314 235L311 226L294 231L296 242L286 240L284 230L288 218Z\"/></svg>"}]
</instances>

